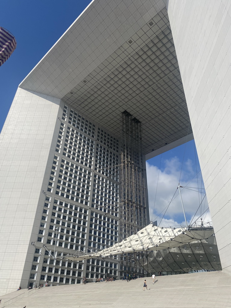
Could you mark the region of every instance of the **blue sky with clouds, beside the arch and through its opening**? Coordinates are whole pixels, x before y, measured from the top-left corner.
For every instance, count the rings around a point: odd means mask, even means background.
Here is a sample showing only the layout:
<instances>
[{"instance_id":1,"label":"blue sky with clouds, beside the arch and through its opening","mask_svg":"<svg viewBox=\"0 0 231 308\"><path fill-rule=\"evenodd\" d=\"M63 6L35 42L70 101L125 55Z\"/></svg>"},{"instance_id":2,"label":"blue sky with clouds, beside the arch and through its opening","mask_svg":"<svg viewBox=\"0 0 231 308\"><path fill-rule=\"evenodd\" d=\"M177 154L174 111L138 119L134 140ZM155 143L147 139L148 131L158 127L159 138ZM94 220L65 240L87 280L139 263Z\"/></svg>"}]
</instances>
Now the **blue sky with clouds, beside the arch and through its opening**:
<instances>
[{"instance_id":1,"label":"blue sky with clouds, beside the arch and through its opening","mask_svg":"<svg viewBox=\"0 0 231 308\"><path fill-rule=\"evenodd\" d=\"M1 3L1 11L4 14L1 16L0 26L15 36L17 48L6 63L0 67L0 130L5 122L18 84L89 3L90 1L86 0L40 0L36 2L8 0ZM199 170L194 141L147 161L150 218L152 220L155 220L171 201L179 179L182 186L191 180L188 186L203 187L201 173L198 173L198 180L195 177ZM188 221L193 217L203 196L203 193L198 194L193 190L183 190L182 197L185 200ZM203 205L204 207L206 208L205 205ZM161 218L162 215L157 217L158 223ZM211 220L209 215L205 220ZM178 196L169 205L160 225L169 226L181 223L184 223L184 217Z\"/></svg>"}]
</instances>

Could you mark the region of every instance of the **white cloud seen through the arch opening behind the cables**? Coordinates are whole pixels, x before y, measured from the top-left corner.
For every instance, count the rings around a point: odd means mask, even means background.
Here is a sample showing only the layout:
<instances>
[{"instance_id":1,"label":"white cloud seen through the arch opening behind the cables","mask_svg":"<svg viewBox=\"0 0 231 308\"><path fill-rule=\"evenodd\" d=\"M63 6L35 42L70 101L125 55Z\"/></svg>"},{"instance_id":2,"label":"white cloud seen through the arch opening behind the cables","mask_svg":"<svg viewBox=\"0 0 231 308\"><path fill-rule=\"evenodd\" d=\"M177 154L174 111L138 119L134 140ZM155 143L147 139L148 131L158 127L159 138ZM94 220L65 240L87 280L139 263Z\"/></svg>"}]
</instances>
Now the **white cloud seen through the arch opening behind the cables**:
<instances>
[{"instance_id":1,"label":"white cloud seen through the arch opening behind the cables","mask_svg":"<svg viewBox=\"0 0 231 308\"><path fill-rule=\"evenodd\" d=\"M197 177L195 177L196 171L193 168L193 163L189 159L184 164L184 168L182 170L181 163L177 157L172 157L171 159L165 160L163 164L164 168L160 170L158 167L146 162L150 220L157 220L159 224L165 212L165 208L170 203L160 225L185 225L185 221L182 222L184 219L183 210L179 191L177 189L179 179L181 186L191 187L190 189L180 188L186 218L189 223L196 213L203 197L205 196L205 190L201 190L203 193L198 193L197 189L198 186L200 186L200 188L204 187L201 175L200 180L197 180ZM197 211L197 214L194 217L194 221L205 209L207 209L207 207L208 203L205 197L201 208ZM162 211L163 213L160 214ZM156 218L158 215L159 217ZM203 221L211 221L211 217L208 215L210 214L207 214L206 219L204 219L205 215L203 216Z\"/></svg>"}]
</instances>

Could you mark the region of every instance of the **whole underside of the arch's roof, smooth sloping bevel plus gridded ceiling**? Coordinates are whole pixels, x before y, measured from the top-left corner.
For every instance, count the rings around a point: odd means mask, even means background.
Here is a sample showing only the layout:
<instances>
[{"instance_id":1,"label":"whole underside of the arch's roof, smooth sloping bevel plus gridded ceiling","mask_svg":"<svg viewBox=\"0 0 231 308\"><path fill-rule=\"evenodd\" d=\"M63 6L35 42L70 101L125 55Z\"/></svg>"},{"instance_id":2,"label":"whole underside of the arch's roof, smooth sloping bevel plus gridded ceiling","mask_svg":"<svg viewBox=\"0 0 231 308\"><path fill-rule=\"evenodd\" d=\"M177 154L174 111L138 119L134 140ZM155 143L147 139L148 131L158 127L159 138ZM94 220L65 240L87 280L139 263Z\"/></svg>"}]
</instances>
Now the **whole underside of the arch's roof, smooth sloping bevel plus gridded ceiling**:
<instances>
[{"instance_id":1,"label":"whole underside of the arch's roof, smooth sloping bevel plus gridded ceiling","mask_svg":"<svg viewBox=\"0 0 231 308\"><path fill-rule=\"evenodd\" d=\"M143 7L145 1L137 1ZM143 154L148 158L192 140L167 8L154 2L139 20L140 9L123 26L118 16L117 30L109 35L99 19L107 15L110 23L111 14L106 7L97 13L103 2L95 0L20 87L62 99L116 137L121 136L121 113L128 111L142 123ZM128 3L110 4L116 16Z\"/></svg>"}]
</instances>

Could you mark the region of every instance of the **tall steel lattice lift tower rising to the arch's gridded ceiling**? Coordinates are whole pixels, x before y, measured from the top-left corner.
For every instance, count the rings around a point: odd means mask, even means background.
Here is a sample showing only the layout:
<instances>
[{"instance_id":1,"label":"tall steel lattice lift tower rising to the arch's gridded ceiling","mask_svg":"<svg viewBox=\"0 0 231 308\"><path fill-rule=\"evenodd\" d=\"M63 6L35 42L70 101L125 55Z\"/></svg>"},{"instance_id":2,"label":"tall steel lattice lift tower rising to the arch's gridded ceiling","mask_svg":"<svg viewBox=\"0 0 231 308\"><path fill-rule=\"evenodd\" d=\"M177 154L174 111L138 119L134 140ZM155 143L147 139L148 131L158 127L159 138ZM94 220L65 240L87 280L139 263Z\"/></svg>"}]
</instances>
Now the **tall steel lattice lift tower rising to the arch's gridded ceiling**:
<instances>
[{"instance_id":1,"label":"tall steel lattice lift tower rising to the arch's gridded ceiling","mask_svg":"<svg viewBox=\"0 0 231 308\"><path fill-rule=\"evenodd\" d=\"M122 239L136 234L147 225L147 187L142 156L141 122L129 112L122 113L121 143L121 217ZM144 273L144 253L124 254L127 273Z\"/></svg>"}]
</instances>

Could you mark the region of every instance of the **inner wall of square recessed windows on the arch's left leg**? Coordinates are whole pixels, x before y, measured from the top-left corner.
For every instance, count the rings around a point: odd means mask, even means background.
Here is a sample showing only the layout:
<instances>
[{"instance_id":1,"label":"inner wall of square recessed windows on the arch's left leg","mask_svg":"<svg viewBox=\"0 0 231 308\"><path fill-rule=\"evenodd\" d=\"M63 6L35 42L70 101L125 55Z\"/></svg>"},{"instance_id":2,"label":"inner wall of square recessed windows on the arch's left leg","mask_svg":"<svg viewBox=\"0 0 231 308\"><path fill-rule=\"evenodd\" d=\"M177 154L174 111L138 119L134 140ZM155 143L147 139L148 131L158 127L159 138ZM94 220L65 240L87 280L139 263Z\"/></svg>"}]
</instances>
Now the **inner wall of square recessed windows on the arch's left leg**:
<instances>
[{"instance_id":1,"label":"inner wall of square recessed windows on the arch's left leg","mask_svg":"<svg viewBox=\"0 0 231 308\"><path fill-rule=\"evenodd\" d=\"M70 250L90 252L119 240L119 178L113 169L120 164L119 141L74 110L68 111L67 106L59 120L57 153L51 167L30 279L40 283L48 280L54 285L80 283L83 273L88 278L116 277L119 262L116 257L113 262L54 259L65 257ZM92 139L95 130L103 132L103 137L107 134L109 148L98 143L95 151ZM99 160L97 168L105 169L92 171L95 157ZM38 272L41 265L42 271Z\"/></svg>"}]
</instances>

